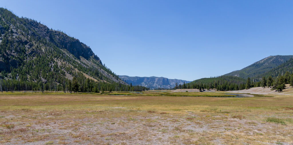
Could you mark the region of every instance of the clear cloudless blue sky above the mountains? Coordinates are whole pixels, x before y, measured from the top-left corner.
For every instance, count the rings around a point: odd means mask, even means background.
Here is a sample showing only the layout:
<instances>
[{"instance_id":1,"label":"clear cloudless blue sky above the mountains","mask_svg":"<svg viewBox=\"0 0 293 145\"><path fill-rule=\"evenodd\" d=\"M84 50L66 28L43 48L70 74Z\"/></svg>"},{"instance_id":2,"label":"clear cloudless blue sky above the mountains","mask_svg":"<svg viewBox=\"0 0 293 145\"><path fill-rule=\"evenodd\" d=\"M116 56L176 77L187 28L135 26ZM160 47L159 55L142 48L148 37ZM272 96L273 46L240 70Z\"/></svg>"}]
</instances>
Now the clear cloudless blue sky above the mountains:
<instances>
[{"instance_id":1,"label":"clear cloudless blue sky above the mountains","mask_svg":"<svg viewBox=\"0 0 293 145\"><path fill-rule=\"evenodd\" d=\"M293 54L292 0L0 0L90 46L118 75L192 81Z\"/></svg>"}]
</instances>

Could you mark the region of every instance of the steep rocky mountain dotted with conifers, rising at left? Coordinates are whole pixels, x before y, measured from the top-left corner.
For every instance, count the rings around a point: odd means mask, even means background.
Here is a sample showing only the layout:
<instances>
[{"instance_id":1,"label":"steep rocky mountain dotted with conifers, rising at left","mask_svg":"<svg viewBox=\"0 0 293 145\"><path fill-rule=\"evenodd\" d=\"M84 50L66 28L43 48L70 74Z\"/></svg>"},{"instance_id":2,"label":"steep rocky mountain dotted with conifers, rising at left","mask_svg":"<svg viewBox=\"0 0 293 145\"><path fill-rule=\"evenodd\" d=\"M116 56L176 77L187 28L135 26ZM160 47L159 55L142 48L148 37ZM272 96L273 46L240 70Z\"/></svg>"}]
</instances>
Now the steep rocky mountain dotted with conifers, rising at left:
<instances>
[{"instance_id":1,"label":"steep rocky mountain dotted with conifers, rising at left","mask_svg":"<svg viewBox=\"0 0 293 145\"><path fill-rule=\"evenodd\" d=\"M0 79L49 83L56 90L73 77L80 83L81 91L87 78L126 85L78 39L35 20L19 18L5 8L0 8L0 73Z\"/></svg>"}]
</instances>

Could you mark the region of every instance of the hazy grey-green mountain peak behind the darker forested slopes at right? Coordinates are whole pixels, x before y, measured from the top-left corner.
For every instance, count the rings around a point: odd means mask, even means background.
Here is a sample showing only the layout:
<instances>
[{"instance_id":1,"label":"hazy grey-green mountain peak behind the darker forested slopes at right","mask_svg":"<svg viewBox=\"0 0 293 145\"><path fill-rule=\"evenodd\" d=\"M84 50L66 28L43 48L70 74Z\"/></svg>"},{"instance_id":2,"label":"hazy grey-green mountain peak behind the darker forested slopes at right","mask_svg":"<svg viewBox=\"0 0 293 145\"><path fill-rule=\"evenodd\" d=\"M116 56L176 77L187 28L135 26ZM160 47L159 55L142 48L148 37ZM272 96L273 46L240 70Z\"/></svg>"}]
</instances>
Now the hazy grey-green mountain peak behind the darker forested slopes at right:
<instances>
[{"instance_id":1,"label":"hazy grey-green mountain peak behind the darker forested slopes at right","mask_svg":"<svg viewBox=\"0 0 293 145\"><path fill-rule=\"evenodd\" d=\"M285 63L292 57L293 55L269 56L241 70L232 71L228 74L225 74L225 76L238 76L244 79L247 79L248 77L253 78L276 68L277 66Z\"/></svg>"}]
</instances>

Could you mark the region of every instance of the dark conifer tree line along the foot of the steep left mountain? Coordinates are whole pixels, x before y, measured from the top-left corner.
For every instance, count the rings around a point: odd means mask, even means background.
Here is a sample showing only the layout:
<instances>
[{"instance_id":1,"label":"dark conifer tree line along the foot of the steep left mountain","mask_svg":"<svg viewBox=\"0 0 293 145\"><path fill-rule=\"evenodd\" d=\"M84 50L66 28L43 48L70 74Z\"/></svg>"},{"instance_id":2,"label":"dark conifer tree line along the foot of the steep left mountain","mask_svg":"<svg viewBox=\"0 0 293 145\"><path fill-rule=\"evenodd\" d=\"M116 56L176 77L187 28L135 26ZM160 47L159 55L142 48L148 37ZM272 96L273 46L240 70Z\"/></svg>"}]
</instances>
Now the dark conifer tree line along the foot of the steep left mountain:
<instances>
[{"instance_id":1,"label":"dark conifer tree line along the foot of the steep left mountain","mask_svg":"<svg viewBox=\"0 0 293 145\"><path fill-rule=\"evenodd\" d=\"M0 77L0 91L42 91L64 93L76 92L104 92L104 91L145 91L149 88L143 86L130 86L117 82L97 82L85 76L73 77L72 80L63 77L60 82L55 81L20 81L19 79L3 79Z\"/></svg>"}]
</instances>

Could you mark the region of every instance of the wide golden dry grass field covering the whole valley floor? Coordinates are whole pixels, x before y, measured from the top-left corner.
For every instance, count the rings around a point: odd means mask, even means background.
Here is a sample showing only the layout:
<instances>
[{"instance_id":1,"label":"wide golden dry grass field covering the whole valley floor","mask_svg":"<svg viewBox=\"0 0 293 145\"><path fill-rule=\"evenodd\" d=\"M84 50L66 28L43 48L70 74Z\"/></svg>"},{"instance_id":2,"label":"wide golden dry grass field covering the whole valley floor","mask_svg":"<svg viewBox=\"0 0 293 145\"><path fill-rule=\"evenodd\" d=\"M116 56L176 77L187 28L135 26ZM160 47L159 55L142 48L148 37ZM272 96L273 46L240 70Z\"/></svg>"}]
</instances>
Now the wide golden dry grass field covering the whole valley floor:
<instances>
[{"instance_id":1,"label":"wide golden dry grass field covering the whole valley floor","mask_svg":"<svg viewBox=\"0 0 293 145\"><path fill-rule=\"evenodd\" d=\"M0 144L293 144L290 92L224 95L0 93Z\"/></svg>"}]
</instances>

